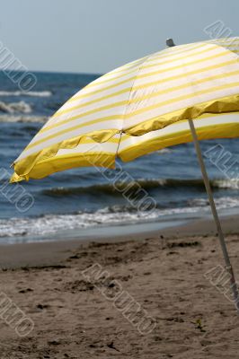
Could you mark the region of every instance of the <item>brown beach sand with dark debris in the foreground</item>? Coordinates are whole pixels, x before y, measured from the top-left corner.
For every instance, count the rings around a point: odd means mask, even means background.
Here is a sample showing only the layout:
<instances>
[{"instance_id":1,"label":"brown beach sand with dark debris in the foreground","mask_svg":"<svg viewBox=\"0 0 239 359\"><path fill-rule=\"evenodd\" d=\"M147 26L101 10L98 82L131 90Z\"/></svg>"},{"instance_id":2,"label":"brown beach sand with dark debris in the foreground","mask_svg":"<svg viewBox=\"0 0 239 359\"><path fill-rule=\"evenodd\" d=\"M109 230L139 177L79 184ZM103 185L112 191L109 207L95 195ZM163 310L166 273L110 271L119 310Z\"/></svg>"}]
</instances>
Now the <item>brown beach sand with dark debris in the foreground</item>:
<instances>
[{"instance_id":1,"label":"brown beach sand with dark debris in the foreground","mask_svg":"<svg viewBox=\"0 0 239 359\"><path fill-rule=\"evenodd\" d=\"M223 227L239 279L238 217ZM211 221L107 241L1 245L0 263L3 359L238 357L239 316L205 276L224 266ZM96 264L108 279L83 275ZM116 288L155 320L152 331L140 333L116 307ZM3 295L33 320L29 335L6 324Z\"/></svg>"}]
</instances>

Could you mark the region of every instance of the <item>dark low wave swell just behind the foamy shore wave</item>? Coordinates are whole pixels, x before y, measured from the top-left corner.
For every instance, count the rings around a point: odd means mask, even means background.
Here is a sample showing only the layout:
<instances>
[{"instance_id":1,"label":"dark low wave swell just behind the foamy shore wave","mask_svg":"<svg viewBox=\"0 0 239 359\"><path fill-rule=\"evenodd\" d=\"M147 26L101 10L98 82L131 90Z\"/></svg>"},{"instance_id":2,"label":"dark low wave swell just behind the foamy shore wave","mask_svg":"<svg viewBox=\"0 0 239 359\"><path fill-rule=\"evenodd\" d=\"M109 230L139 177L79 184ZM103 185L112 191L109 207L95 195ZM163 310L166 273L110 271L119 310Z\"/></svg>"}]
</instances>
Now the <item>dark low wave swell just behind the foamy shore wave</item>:
<instances>
[{"instance_id":1,"label":"dark low wave swell just behind the foamy shore wave","mask_svg":"<svg viewBox=\"0 0 239 359\"><path fill-rule=\"evenodd\" d=\"M239 188L239 180L211 180L212 188ZM202 179L195 180L176 180L176 179L139 179L134 182L115 182L96 184L88 187L57 187L43 189L42 194L50 197L61 197L61 196L75 196L78 194L87 194L101 192L103 194L117 195L124 191L124 188L129 188L133 191L137 190L138 185L144 189L157 189L157 188L204 188L204 182ZM120 189L120 190L119 190Z\"/></svg>"}]
</instances>

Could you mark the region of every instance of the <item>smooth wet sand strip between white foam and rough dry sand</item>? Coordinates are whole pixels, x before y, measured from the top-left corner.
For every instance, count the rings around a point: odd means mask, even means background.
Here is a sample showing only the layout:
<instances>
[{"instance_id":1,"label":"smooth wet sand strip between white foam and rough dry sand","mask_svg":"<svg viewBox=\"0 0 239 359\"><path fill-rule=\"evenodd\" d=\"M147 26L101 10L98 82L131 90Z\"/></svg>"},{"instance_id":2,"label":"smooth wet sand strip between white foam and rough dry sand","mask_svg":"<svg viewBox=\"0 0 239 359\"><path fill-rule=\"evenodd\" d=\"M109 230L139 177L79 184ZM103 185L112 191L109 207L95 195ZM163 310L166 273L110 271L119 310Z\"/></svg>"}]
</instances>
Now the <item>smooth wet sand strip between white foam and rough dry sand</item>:
<instances>
[{"instance_id":1,"label":"smooth wet sand strip between white foam and rough dry sand","mask_svg":"<svg viewBox=\"0 0 239 359\"><path fill-rule=\"evenodd\" d=\"M221 216L223 231L226 235L239 233L239 215ZM143 224L144 225L144 224ZM148 226L147 228L150 228ZM58 241L45 240L20 243L0 244L0 268L57 266L66 260L79 247L87 247L92 242L120 243L124 241L145 241L148 238L176 239L216 236L216 228L213 219L199 219L175 225L161 230L146 230L143 232L127 232L87 236L85 238L68 238Z\"/></svg>"}]
</instances>

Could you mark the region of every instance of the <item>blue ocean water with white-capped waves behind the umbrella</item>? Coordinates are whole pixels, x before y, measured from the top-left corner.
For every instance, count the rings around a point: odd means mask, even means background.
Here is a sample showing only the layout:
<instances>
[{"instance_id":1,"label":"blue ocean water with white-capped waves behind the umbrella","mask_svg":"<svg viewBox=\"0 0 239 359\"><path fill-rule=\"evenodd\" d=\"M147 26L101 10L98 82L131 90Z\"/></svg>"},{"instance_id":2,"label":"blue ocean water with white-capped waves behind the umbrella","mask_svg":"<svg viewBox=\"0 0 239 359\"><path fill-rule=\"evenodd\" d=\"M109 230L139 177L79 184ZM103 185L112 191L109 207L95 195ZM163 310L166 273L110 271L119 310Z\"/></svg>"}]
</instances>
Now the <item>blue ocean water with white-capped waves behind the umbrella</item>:
<instances>
[{"instance_id":1,"label":"blue ocean water with white-capped waves behind the umbrella","mask_svg":"<svg viewBox=\"0 0 239 359\"><path fill-rule=\"evenodd\" d=\"M134 162L120 162L123 171L154 198L154 210L138 212L97 169L79 168L43 180L22 182L22 188L31 194L34 204L26 212L19 211L13 199L18 185L5 188L5 179L12 172L10 164L61 104L98 77L97 74L35 75L36 86L24 93L0 72L0 241L31 241L42 236L49 238L60 231L67 235L74 230L80 232L109 225L172 223L209 215L193 144L173 146ZM204 141L202 152L218 144L231 153L229 162L221 165L221 169L207 158L206 163L217 208L225 215L237 212L239 207L238 168L235 173L229 171L230 176L228 172L226 175L226 166L236 167L239 140Z\"/></svg>"}]
</instances>

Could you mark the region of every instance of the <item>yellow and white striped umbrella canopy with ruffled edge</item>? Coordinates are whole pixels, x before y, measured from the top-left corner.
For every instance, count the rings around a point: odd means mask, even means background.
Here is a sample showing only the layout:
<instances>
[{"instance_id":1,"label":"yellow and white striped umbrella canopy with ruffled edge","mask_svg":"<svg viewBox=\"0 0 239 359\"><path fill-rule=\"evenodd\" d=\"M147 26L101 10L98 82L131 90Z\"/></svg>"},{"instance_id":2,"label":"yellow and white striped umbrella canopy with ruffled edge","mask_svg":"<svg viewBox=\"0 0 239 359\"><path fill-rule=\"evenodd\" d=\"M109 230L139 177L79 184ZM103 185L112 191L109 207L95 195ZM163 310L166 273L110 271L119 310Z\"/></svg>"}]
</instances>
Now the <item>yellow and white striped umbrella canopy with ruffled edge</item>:
<instances>
[{"instance_id":1,"label":"yellow and white striped umbrella canopy with ruffled edge","mask_svg":"<svg viewBox=\"0 0 239 359\"><path fill-rule=\"evenodd\" d=\"M165 48L88 84L13 163L12 181L114 167L173 144L239 136L239 38Z\"/></svg>"}]
</instances>

